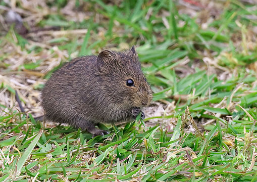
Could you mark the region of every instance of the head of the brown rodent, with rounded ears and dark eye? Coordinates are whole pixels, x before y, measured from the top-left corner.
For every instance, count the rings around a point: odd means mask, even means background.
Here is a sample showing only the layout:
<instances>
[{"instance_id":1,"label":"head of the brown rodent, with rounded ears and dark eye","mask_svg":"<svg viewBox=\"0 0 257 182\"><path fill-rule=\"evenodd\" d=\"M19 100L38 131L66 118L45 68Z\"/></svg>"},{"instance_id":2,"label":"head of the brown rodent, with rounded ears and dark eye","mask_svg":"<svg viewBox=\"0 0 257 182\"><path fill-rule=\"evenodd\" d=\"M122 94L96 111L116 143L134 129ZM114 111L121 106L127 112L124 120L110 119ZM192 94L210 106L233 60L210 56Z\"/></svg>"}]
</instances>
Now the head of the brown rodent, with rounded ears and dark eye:
<instances>
[{"instance_id":1,"label":"head of the brown rodent, with rounded ears and dark eye","mask_svg":"<svg viewBox=\"0 0 257 182\"><path fill-rule=\"evenodd\" d=\"M108 95L121 106L143 107L150 104L152 90L141 70L135 46L122 53L100 52L97 67Z\"/></svg>"}]
</instances>

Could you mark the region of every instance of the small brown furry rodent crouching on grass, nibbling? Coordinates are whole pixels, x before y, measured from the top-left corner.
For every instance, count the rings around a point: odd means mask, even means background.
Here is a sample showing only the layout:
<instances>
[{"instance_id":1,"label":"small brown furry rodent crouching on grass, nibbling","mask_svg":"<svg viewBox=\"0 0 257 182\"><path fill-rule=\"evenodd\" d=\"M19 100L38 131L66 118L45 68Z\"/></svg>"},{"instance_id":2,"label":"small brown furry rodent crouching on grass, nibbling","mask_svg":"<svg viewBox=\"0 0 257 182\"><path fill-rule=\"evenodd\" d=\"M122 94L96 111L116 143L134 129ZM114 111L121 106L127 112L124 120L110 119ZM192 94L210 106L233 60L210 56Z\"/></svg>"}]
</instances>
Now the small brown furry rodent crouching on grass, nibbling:
<instances>
[{"instance_id":1,"label":"small brown furry rodent crouching on grass, nibbling","mask_svg":"<svg viewBox=\"0 0 257 182\"><path fill-rule=\"evenodd\" d=\"M108 134L95 127L98 122L133 121L151 103L152 90L133 46L125 52L105 50L73 59L46 81L41 98L47 119L95 136Z\"/></svg>"}]
</instances>

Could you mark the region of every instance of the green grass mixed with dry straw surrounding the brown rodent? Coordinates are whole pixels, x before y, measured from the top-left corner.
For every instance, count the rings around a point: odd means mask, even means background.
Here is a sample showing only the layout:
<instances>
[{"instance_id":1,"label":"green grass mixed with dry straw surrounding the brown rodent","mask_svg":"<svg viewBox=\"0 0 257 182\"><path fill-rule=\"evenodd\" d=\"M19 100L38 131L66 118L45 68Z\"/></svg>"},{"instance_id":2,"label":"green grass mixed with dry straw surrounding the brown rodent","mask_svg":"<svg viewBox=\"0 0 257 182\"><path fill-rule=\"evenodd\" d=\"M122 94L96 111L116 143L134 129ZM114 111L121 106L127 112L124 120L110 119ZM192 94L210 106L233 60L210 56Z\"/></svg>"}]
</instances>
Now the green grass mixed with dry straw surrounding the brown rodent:
<instances>
[{"instance_id":1,"label":"green grass mixed with dry straw surrounding the brown rodent","mask_svg":"<svg viewBox=\"0 0 257 182\"><path fill-rule=\"evenodd\" d=\"M0 32L0 181L257 181L249 2L17 1L30 33ZM1 17L10 6L0 2ZM133 44L155 93L144 121L100 124L110 134L93 139L34 121L40 90L63 62Z\"/></svg>"}]
</instances>

